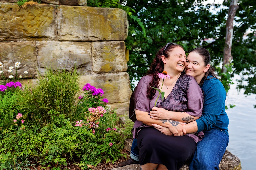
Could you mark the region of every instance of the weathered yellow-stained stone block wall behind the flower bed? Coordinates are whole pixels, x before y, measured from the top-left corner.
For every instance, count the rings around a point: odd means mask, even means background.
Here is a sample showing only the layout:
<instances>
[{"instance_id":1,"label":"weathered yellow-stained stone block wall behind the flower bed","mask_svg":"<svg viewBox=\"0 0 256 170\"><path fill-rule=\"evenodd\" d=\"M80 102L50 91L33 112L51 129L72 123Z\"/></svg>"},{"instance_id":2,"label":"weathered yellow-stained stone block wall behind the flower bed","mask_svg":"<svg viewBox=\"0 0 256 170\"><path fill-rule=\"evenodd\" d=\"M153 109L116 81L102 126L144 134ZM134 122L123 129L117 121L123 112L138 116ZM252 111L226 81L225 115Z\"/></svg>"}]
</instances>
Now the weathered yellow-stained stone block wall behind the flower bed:
<instances>
[{"instance_id":1,"label":"weathered yellow-stained stone block wall behind the flower bed","mask_svg":"<svg viewBox=\"0 0 256 170\"><path fill-rule=\"evenodd\" d=\"M35 79L46 67L71 70L78 66L81 87L90 83L104 90L109 104L128 105L124 10L87 7L82 0L51 0L44 1L51 4L25 8L15 2L0 0L0 62L6 77L8 67L17 61L21 63L18 75L25 77L28 71L28 77Z\"/></svg>"}]
</instances>

